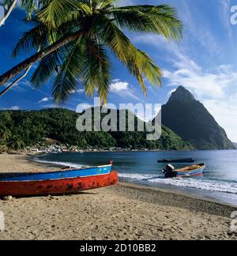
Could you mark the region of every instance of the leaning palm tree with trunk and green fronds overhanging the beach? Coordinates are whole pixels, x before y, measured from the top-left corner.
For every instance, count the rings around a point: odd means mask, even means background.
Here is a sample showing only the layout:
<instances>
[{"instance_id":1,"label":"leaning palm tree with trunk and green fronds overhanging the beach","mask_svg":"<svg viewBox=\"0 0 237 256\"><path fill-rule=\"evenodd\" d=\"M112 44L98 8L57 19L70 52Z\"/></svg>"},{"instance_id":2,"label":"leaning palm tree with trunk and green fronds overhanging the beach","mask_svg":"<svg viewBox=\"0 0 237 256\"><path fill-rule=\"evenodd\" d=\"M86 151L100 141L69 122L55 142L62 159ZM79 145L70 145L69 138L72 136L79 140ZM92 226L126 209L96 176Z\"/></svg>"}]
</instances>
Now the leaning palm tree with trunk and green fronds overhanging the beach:
<instances>
[{"instance_id":1,"label":"leaning palm tree with trunk and green fronds overhanging the beach","mask_svg":"<svg viewBox=\"0 0 237 256\"><path fill-rule=\"evenodd\" d=\"M32 83L43 85L56 74L52 95L58 104L66 101L80 82L88 96L96 90L106 102L111 81L109 52L137 78L144 93L144 77L152 85L160 85L160 68L131 43L122 29L179 40L182 22L176 10L167 5L116 7L114 2L51 0L36 13L35 28L22 36L13 55L42 50L0 76L0 86L40 61Z\"/></svg>"}]
</instances>

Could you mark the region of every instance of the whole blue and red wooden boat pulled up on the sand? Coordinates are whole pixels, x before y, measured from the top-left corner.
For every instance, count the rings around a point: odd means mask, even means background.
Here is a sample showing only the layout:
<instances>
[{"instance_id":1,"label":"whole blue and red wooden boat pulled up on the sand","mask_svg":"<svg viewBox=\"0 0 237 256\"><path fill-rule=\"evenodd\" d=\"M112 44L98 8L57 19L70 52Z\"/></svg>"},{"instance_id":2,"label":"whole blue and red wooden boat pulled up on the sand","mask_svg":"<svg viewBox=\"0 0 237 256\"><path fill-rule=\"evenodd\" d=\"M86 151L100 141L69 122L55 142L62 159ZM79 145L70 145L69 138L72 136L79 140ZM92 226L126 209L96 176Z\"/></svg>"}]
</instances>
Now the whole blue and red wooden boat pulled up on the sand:
<instances>
[{"instance_id":1,"label":"whole blue and red wooden boat pulled up on the sand","mask_svg":"<svg viewBox=\"0 0 237 256\"><path fill-rule=\"evenodd\" d=\"M69 169L54 172L2 173L0 196L37 196L72 194L119 183L119 175L111 164L95 168Z\"/></svg>"}]
</instances>

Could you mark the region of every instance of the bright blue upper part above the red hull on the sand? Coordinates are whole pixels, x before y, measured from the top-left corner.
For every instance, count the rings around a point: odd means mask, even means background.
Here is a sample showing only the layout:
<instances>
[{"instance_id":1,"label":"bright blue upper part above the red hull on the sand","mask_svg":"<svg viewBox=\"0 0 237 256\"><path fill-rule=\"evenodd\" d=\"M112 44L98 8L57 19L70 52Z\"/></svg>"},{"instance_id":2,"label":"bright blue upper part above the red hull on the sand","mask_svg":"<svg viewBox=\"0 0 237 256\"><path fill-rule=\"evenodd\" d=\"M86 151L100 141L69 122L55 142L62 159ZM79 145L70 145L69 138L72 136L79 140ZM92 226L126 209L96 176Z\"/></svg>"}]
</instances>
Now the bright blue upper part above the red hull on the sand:
<instances>
[{"instance_id":1,"label":"bright blue upper part above the red hull on the sand","mask_svg":"<svg viewBox=\"0 0 237 256\"><path fill-rule=\"evenodd\" d=\"M44 181L51 179L74 179L90 177L95 175L107 175L111 172L112 165L103 165L92 168L66 169L63 171L51 172L17 172L17 173L0 173L0 182L30 182Z\"/></svg>"}]
</instances>

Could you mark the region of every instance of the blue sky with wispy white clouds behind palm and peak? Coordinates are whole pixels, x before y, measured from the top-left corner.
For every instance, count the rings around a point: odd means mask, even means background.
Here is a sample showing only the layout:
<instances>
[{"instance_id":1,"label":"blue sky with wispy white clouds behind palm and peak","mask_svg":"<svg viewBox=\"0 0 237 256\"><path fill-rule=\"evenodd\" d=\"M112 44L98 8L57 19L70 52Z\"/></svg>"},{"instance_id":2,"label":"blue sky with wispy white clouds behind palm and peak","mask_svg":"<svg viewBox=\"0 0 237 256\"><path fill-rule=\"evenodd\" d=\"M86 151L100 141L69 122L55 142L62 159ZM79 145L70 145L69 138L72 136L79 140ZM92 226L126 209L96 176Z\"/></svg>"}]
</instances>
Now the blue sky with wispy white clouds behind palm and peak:
<instances>
[{"instance_id":1,"label":"blue sky with wispy white clouds behind palm and peak","mask_svg":"<svg viewBox=\"0 0 237 256\"><path fill-rule=\"evenodd\" d=\"M182 40L173 43L154 34L126 32L130 40L146 51L163 70L162 88L152 87L146 81L148 96L145 97L136 79L111 57L113 66L108 102L116 105L165 104L171 92L182 85L205 105L231 141L237 142L237 24L231 24L231 6L237 6L237 0L118 0L121 6L163 3L178 10L184 24ZM17 8L0 28L0 73L29 55L11 58L21 33L29 29L23 19L24 12ZM51 81L37 89L29 81L30 73L0 99L0 109L55 107L51 99ZM76 110L78 104L93 104L93 99L85 96L80 84L62 107Z\"/></svg>"}]
</instances>

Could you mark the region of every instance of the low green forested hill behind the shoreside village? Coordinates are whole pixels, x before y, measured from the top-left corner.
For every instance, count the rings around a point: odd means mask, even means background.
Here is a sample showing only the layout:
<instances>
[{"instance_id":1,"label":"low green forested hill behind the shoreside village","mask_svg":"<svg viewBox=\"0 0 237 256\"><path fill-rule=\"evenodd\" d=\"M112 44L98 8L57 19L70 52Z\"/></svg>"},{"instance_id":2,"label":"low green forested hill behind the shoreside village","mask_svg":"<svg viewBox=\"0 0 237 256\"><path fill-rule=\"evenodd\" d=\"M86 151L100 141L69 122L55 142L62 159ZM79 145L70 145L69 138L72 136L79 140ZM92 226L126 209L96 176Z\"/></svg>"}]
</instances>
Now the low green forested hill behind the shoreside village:
<instances>
[{"instance_id":1,"label":"low green forested hill behind the shoreside village","mask_svg":"<svg viewBox=\"0 0 237 256\"><path fill-rule=\"evenodd\" d=\"M25 149L50 138L81 149L189 149L189 144L167 127L159 141L147 141L147 132L78 132L79 114L61 108L41 111L0 111L0 150ZM135 117L137 122L137 117Z\"/></svg>"}]
</instances>

